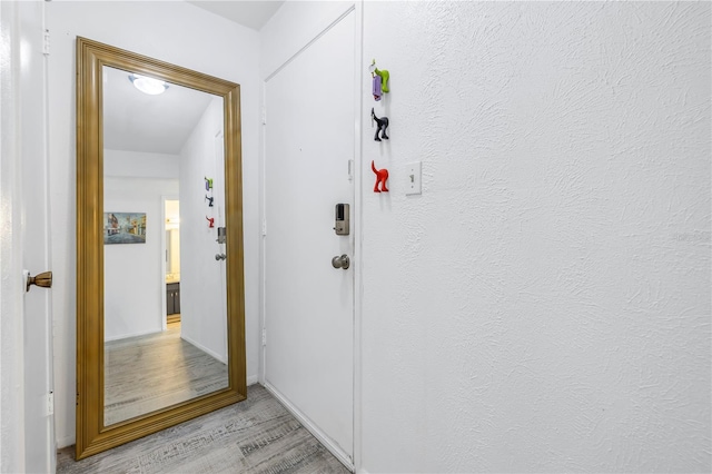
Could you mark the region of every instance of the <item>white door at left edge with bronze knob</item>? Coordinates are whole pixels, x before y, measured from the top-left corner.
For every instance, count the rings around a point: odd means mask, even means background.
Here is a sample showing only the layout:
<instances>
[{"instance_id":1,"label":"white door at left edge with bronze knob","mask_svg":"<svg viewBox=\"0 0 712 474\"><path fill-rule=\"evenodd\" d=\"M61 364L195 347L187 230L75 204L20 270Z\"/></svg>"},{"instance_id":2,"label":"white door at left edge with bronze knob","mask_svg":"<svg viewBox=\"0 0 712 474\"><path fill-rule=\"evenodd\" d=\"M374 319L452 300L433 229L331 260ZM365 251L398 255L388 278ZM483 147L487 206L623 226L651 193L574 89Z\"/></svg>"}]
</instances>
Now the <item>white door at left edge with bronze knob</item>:
<instances>
[{"instance_id":1,"label":"white door at left edge with bronze knob","mask_svg":"<svg viewBox=\"0 0 712 474\"><path fill-rule=\"evenodd\" d=\"M2 368L9 365L19 372L12 381L11 395L8 399L3 396L2 402L9 402L21 413L12 415L11 432L17 437L2 441L2 447L9 447L16 456L7 460L3 453L3 468L53 472L51 294L50 289L37 286L26 293L22 283L23 268L33 276L51 269L44 2L2 2L0 8L3 30L2 330L11 330L17 336L9 361L3 350ZM9 264L6 258L10 259ZM10 308L6 307L6 298L14 302ZM9 310L6 313L6 309ZM3 334L3 342L6 336ZM4 424L3 417L3 434Z\"/></svg>"}]
</instances>

